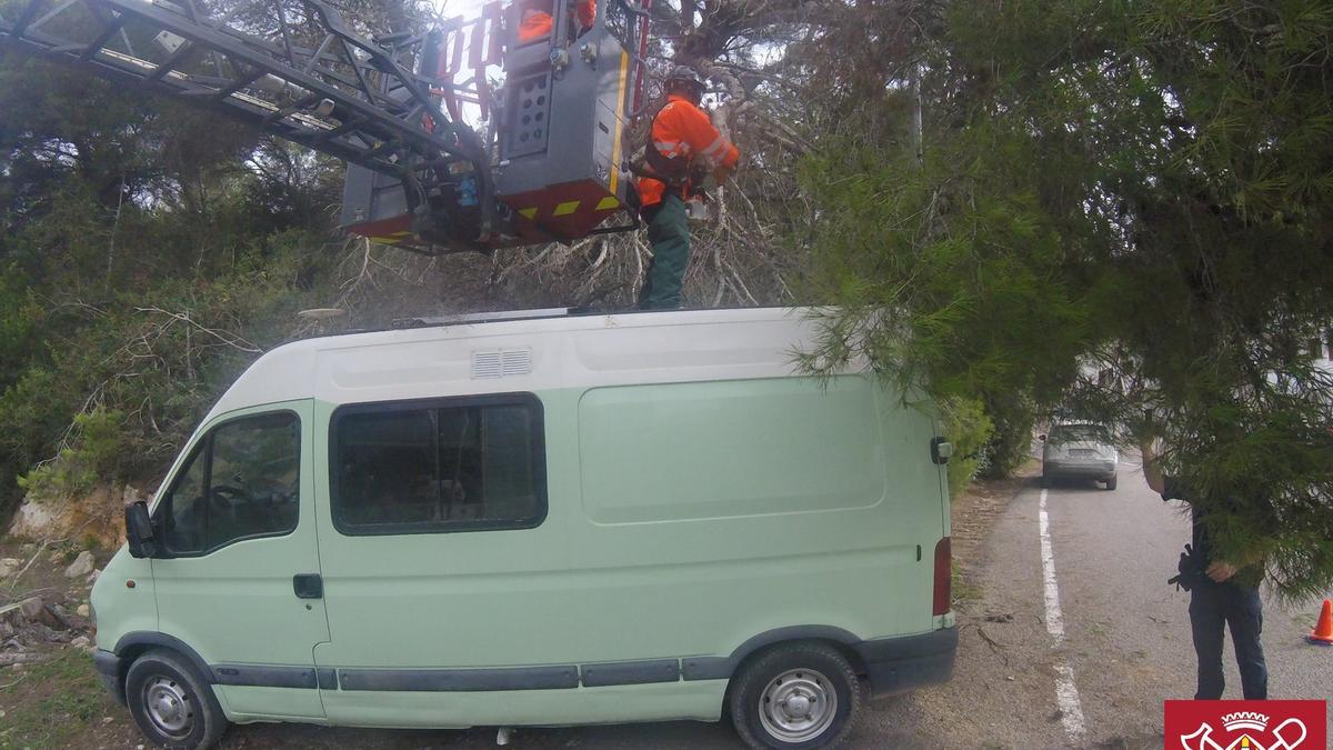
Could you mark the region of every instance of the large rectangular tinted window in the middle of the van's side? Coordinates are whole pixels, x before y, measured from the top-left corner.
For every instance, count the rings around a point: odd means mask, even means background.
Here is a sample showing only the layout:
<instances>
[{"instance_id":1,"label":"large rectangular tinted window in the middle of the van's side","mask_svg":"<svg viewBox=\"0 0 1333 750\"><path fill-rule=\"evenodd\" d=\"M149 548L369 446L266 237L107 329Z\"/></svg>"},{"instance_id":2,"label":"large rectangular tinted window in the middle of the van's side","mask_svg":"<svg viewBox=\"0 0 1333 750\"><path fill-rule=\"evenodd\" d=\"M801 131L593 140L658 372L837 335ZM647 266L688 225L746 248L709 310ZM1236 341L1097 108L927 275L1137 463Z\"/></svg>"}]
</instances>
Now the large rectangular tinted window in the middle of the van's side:
<instances>
[{"instance_id":1,"label":"large rectangular tinted window in the middle of the van's side","mask_svg":"<svg viewBox=\"0 0 1333 750\"><path fill-rule=\"evenodd\" d=\"M535 396L344 407L332 428L343 534L532 528L547 515Z\"/></svg>"}]
</instances>

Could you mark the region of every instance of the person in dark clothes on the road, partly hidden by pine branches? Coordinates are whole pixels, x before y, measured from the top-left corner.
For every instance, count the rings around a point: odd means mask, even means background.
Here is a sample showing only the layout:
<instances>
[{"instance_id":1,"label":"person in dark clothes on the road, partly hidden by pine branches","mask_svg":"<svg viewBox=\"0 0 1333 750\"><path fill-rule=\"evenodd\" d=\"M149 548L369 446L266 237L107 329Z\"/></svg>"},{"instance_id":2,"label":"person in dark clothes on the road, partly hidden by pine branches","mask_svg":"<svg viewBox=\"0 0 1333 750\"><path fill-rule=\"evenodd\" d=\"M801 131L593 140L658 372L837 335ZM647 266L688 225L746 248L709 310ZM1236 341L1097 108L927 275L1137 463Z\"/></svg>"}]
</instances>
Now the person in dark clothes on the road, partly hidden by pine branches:
<instances>
[{"instance_id":1,"label":"person in dark clothes on the road, partly hidden by pine branches","mask_svg":"<svg viewBox=\"0 0 1333 750\"><path fill-rule=\"evenodd\" d=\"M1198 687L1196 701L1217 701L1222 697L1226 679L1222 675L1224 629L1230 627L1236 647L1236 663L1241 673L1241 691L1246 701L1268 698L1268 666L1264 662L1264 603L1258 585L1264 578L1264 565L1258 559L1233 562L1222 559L1208 530L1206 512L1197 504L1198 494L1174 476L1164 476L1157 466L1154 439L1140 439L1144 459L1144 478L1162 500L1185 500L1190 504L1194 523L1190 547L1193 554L1181 575L1189 585L1189 625L1194 635L1198 657Z\"/></svg>"}]
</instances>

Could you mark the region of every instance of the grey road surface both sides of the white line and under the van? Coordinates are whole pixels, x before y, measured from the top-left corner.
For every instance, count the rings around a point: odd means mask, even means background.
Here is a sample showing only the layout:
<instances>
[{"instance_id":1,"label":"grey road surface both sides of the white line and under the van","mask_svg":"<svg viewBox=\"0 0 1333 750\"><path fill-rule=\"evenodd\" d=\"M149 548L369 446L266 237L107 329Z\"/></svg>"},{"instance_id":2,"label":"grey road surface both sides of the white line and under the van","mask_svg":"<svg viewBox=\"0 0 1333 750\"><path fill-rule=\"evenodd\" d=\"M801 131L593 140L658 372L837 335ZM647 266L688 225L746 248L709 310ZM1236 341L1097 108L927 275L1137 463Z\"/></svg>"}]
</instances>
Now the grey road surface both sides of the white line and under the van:
<instances>
[{"instance_id":1,"label":"grey road surface both sides of the white line and under the van","mask_svg":"<svg viewBox=\"0 0 1333 750\"><path fill-rule=\"evenodd\" d=\"M1017 494L1014 494L1014 490ZM1010 499L1012 498L1012 499ZM1041 488L1014 484L972 519L976 536L954 679L870 703L853 747L1162 746L1162 701L1194 690L1189 595L1166 586L1189 540L1180 503L1144 484L1137 462L1120 467L1116 491L1066 483L1046 494L1049 550L1064 638L1048 623ZM1288 610L1265 597L1264 646L1273 698L1333 695L1333 649L1302 637L1314 605ZM1226 698L1240 698L1230 646ZM1066 682L1064 701L1057 683ZM1072 694L1077 702L1072 703ZM1077 707L1081 721L1070 713ZM1333 717L1330 717L1333 718ZM1333 722L1330 722L1333 735ZM399 733L297 726L236 727L228 747L485 747L495 730ZM740 747L730 727L694 722L519 730L513 747Z\"/></svg>"}]
</instances>

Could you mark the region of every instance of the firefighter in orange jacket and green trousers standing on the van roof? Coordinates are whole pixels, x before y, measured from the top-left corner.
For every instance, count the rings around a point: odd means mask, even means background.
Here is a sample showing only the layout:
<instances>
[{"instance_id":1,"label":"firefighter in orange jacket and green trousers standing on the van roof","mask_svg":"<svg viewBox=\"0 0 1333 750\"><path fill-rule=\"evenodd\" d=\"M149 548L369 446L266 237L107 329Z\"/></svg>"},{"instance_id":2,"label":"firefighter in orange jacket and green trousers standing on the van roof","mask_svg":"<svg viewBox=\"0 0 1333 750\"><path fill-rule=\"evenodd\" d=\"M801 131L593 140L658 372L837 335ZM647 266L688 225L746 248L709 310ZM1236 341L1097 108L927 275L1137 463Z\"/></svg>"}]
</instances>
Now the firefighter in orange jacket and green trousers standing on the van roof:
<instances>
[{"instance_id":1,"label":"firefighter in orange jacket and green trousers standing on the van roof","mask_svg":"<svg viewBox=\"0 0 1333 750\"><path fill-rule=\"evenodd\" d=\"M704 79L690 68L680 65L670 72L666 104L653 117L651 143L644 149L645 172L652 176L640 177L639 199L653 260L639 292L641 310L680 307L689 264L685 202L709 172L721 181L741 157L740 149L698 108L704 88Z\"/></svg>"}]
</instances>

